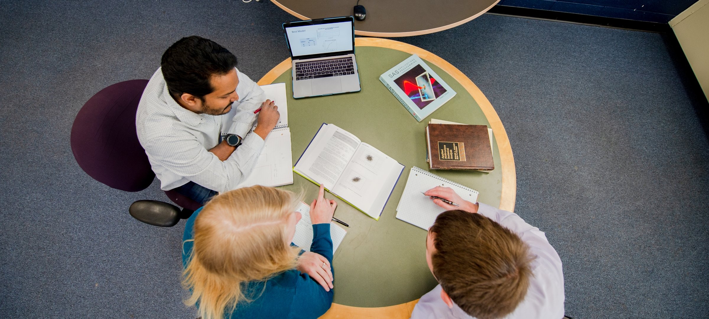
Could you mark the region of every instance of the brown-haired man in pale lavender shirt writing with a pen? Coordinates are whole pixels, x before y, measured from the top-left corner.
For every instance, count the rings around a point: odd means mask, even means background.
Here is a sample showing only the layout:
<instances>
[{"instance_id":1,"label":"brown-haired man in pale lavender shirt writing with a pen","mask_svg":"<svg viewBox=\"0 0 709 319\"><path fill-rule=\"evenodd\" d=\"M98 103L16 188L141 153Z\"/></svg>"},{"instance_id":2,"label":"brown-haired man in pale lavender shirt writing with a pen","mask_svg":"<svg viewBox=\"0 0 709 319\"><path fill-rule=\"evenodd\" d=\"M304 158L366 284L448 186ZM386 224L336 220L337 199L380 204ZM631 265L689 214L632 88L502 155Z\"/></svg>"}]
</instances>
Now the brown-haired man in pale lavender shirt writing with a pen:
<instances>
[{"instance_id":1,"label":"brown-haired man in pale lavender shirt writing with a pen","mask_svg":"<svg viewBox=\"0 0 709 319\"><path fill-rule=\"evenodd\" d=\"M561 319L562 261L539 228L515 213L464 201L452 189L425 192L450 211L428 230L426 262L439 285L412 319Z\"/></svg>"}]
</instances>

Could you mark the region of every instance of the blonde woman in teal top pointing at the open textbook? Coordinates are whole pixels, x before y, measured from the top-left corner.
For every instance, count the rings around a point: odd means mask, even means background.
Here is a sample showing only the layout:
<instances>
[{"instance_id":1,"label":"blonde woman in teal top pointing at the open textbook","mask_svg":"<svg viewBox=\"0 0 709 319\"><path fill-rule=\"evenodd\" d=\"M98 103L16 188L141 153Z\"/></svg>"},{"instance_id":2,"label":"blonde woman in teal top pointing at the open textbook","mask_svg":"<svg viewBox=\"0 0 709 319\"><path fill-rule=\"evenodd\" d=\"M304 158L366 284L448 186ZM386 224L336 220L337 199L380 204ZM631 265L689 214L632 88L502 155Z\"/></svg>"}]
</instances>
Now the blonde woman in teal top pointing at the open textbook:
<instances>
[{"instance_id":1,"label":"blonde woman in teal top pointing at the open textbook","mask_svg":"<svg viewBox=\"0 0 709 319\"><path fill-rule=\"evenodd\" d=\"M184 230L187 306L203 319L318 318L333 302L330 220L337 203L311 203L311 252L291 245L301 214L289 191L252 186L220 194Z\"/></svg>"}]
</instances>

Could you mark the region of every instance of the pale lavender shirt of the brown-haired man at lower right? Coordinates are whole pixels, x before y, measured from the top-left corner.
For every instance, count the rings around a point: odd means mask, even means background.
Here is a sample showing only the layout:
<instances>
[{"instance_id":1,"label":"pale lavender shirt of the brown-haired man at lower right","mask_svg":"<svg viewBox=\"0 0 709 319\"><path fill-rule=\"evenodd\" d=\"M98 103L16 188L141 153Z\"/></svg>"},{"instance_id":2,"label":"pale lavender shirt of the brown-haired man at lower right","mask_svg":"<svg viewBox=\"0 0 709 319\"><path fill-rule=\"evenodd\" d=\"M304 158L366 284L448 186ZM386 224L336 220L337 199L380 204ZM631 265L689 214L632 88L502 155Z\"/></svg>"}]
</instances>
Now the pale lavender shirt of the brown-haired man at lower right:
<instances>
[{"instance_id":1,"label":"pale lavender shirt of the brown-haired man at lower right","mask_svg":"<svg viewBox=\"0 0 709 319\"><path fill-rule=\"evenodd\" d=\"M564 274L562 259L549 244L547 236L515 213L480 203L478 213L512 230L530 247L536 259L527 295L515 310L504 319L561 319L564 317ZM441 285L420 298L411 313L411 319L473 319L459 306L453 308L441 299Z\"/></svg>"}]
</instances>

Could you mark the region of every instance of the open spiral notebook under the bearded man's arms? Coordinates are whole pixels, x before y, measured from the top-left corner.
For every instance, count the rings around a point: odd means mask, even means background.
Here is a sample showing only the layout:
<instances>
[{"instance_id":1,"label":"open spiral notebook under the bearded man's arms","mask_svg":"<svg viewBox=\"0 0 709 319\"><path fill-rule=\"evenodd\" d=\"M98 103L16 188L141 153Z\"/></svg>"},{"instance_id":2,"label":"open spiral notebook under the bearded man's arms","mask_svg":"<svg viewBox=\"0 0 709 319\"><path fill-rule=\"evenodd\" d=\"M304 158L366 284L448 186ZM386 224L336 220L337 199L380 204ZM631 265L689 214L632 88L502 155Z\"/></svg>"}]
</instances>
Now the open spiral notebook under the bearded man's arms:
<instances>
[{"instance_id":1,"label":"open spiral notebook under the bearded man's arms","mask_svg":"<svg viewBox=\"0 0 709 319\"><path fill-rule=\"evenodd\" d=\"M276 128L264 140L264 147L254 162L251 173L235 188L254 185L281 186L293 184L293 153L291 152L291 129L288 128L288 100L286 84L262 85L266 99L276 101L281 117ZM256 128L256 123L252 130Z\"/></svg>"}]
</instances>

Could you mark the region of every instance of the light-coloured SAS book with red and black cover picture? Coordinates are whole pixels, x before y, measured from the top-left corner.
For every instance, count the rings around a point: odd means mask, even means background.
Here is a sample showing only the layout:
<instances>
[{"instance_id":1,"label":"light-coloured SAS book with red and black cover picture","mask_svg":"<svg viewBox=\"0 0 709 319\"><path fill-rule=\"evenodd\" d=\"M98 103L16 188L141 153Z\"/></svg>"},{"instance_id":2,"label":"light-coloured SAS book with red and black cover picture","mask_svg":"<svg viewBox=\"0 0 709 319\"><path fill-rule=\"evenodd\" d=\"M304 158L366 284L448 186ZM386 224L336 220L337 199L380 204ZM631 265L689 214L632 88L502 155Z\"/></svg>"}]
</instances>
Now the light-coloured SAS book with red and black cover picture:
<instances>
[{"instance_id":1,"label":"light-coloured SAS book with red and black cover picture","mask_svg":"<svg viewBox=\"0 0 709 319\"><path fill-rule=\"evenodd\" d=\"M384 72L379 81L419 122L455 96L455 91L418 55Z\"/></svg>"}]
</instances>

